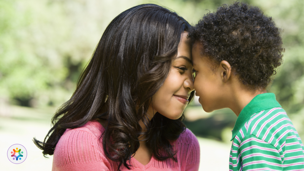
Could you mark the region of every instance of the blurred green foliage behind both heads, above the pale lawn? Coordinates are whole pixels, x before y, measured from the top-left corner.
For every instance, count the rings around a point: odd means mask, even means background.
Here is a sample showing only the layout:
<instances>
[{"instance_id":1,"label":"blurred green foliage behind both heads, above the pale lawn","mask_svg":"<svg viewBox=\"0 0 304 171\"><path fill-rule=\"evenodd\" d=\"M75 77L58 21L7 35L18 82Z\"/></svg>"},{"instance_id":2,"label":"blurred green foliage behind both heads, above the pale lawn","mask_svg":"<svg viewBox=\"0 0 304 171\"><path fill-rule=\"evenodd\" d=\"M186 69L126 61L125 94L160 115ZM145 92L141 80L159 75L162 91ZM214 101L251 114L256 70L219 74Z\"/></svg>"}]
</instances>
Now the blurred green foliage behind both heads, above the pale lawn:
<instances>
[{"instance_id":1,"label":"blurred green foliage behind both heads, above the pale lawn","mask_svg":"<svg viewBox=\"0 0 304 171\"><path fill-rule=\"evenodd\" d=\"M0 98L59 106L75 89L108 23L142 3L164 5L195 24L227 0L0 0ZM304 103L304 2L247 0L284 30L284 63L270 88L290 113ZM209 10L209 11L208 11Z\"/></svg>"}]
</instances>

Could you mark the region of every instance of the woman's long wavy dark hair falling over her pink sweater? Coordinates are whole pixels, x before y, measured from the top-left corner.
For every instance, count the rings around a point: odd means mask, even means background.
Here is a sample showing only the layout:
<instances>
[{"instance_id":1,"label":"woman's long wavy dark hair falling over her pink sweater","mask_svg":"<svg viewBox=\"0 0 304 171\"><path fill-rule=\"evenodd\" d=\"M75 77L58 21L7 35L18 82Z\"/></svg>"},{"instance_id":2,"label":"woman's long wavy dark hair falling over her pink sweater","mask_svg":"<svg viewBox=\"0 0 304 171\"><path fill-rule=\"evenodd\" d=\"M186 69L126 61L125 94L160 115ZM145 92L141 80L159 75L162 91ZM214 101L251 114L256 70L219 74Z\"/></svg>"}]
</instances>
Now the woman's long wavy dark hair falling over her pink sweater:
<instances>
[{"instance_id":1,"label":"woman's long wavy dark hair falling over her pink sweater","mask_svg":"<svg viewBox=\"0 0 304 171\"><path fill-rule=\"evenodd\" d=\"M53 155L64 131L89 120L105 118L107 125L103 149L112 161L129 169L130 160L140 146L139 136L146 135L155 157L174 157L170 140L185 130L184 115L171 120L156 113L151 121L147 110L152 96L161 87L177 54L181 33L189 23L175 12L154 4L143 4L119 14L105 29L77 88L52 118L54 125L44 141L34 138L43 155ZM191 101L194 92L191 93ZM106 112L102 112L106 108ZM147 130L142 132L140 120Z\"/></svg>"}]
</instances>

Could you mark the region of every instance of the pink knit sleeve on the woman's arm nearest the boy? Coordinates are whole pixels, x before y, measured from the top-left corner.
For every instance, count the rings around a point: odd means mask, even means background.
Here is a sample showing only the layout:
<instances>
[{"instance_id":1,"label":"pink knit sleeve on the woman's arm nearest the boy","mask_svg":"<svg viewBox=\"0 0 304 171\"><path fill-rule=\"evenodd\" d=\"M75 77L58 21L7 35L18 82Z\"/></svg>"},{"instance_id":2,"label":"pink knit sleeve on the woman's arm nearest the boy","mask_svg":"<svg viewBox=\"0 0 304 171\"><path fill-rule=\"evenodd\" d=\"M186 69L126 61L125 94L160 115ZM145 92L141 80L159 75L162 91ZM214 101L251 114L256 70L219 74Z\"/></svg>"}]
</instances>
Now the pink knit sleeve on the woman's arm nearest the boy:
<instances>
[{"instance_id":1,"label":"pink knit sleeve on the woman's arm nearest the boy","mask_svg":"<svg viewBox=\"0 0 304 171\"><path fill-rule=\"evenodd\" d=\"M186 151L187 158L185 171L198 171L200 161L199 141L191 131L189 132L189 149Z\"/></svg>"}]
</instances>

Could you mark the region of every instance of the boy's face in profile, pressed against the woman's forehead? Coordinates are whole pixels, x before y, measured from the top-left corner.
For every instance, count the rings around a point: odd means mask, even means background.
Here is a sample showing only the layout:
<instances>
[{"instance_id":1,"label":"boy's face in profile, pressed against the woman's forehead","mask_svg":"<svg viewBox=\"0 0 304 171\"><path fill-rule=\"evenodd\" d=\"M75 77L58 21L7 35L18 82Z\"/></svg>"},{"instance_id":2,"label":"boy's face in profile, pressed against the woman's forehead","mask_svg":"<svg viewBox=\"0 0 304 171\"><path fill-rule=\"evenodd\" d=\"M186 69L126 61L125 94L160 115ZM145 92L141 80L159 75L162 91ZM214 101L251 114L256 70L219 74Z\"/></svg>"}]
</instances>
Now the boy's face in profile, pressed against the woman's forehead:
<instances>
[{"instance_id":1,"label":"boy's face in profile, pressed against the woman's forehead","mask_svg":"<svg viewBox=\"0 0 304 171\"><path fill-rule=\"evenodd\" d=\"M199 96L199 103L206 112L221 109L222 106L222 79L219 73L212 70L212 62L208 57L201 55L202 45L195 43L192 46L193 68L196 70L194 79L195 95Z\"/></svg>"}]
</instances>

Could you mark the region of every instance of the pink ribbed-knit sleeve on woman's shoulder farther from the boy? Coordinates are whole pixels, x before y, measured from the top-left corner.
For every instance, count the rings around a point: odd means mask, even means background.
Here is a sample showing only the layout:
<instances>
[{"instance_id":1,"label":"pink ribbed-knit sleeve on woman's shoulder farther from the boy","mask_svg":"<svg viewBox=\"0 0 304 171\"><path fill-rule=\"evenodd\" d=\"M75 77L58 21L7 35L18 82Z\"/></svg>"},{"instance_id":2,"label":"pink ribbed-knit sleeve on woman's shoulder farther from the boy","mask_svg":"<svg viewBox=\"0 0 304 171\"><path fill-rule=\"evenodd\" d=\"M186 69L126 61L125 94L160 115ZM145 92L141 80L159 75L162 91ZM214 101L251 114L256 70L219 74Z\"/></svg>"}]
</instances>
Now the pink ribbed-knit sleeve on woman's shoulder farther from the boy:
<instances>
[{"instance_id":1,"label":"pink ribbed-knit sleeve on woman's shoulder farther from the boy","mask_svg":"<svg viewBox=\"0 0 304 171\"><path fill-rule=\"evenodd\" d=\"M52 171L109 171L102 143L86 131L68 130L58 141Z\"/></svg>"}]
</instances>

